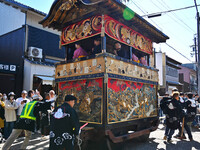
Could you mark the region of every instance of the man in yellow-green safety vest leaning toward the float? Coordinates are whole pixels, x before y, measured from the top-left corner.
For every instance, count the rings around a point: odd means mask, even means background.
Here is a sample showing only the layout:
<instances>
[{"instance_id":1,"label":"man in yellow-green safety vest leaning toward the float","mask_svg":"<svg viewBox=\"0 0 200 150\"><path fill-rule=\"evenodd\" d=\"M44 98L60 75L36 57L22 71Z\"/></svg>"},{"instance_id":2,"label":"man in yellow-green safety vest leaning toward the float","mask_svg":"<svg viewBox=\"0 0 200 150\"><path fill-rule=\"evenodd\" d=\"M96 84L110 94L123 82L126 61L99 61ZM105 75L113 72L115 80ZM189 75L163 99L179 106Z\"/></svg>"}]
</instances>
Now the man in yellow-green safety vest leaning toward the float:
<instances>
[{"instance_id":1,"label":"man in yellow-green safety vest leaning toward the float","mask_svg":"<svg viewBox=\"0 0 200 150\"><path fill-rule=\"evenodd\" d=\"M33 99L39 99L39 96L34 96ZM36 116L39 114L39 111L50 109L52 102L54 101L40 102L33 100L26 103L19 119L16 121L11 135L2 147L2 150L10 149L10 146L22 131L25 131L25 139L20 149L26 149L31 138L31 132L34 132L35 129Z\"/></svg>"}]
</instances>

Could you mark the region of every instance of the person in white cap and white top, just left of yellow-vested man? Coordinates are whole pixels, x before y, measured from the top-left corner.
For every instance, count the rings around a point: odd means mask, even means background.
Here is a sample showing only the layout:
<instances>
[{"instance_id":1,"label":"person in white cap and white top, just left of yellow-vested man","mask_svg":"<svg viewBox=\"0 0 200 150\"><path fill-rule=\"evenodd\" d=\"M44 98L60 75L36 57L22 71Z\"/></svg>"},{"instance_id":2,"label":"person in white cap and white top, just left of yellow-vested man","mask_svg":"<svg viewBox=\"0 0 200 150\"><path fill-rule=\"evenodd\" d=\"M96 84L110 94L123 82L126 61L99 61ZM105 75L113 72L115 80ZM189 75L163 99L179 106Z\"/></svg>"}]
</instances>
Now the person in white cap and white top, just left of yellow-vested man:
<instances>
[{"instance_id":1,"label":"person in white cap and white top, just left of yellow-vested man","mask_svg":"<svg viewBox=\"0 0 200 150\"><path fill-rule=\"evenodd\" d=\"M16 99L16 102L18 104L18 110L17 110L17 118L20 117L21 113L22 113L22 109L24 107L24 105L28 102L30 102L30 100L28 98L26 98L27 96L27 92L26 90L23 90L22 93L21 93L21 96L22 97L19 97Z\"/></svg>"}]
</instances>

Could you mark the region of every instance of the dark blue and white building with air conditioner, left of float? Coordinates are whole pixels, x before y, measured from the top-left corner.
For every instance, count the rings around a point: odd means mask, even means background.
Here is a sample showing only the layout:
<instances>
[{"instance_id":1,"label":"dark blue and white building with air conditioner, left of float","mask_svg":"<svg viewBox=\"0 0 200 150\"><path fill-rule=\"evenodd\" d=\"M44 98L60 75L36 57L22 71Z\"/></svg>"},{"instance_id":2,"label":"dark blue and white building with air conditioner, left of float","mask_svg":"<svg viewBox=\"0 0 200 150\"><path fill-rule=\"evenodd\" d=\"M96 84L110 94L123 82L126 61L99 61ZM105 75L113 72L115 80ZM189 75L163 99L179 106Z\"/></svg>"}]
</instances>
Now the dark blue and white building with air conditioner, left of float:
<instances>
[{"instance_id":1,"label":"dark blue and white building with air conditioner, left of float","mask_svg":"<svg viewBox=\"0 0 200 150\"><path fill-rule=\"evenodd\" d=\"M61 33L38 23L45 13L13 0L0 2L0 16L0 92L52 89L54 64L65 58Z\"/></svg>"}]
</instances>

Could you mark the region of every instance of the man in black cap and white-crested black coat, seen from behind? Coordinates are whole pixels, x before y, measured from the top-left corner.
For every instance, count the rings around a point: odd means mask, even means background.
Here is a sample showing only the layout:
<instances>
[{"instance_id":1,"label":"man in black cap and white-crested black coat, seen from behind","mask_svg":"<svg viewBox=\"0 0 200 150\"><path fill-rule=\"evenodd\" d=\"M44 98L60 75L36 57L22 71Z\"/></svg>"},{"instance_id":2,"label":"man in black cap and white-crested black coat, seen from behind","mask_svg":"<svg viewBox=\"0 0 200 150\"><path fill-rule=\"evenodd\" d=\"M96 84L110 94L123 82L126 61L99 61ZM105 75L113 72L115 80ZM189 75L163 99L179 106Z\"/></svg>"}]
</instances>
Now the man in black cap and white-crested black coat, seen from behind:
<instances>
[{"instance_id":1,"label":"man in black cap and white-crested black coat, seen from behind","mask_svg":"<svg viewBox=\"0 0 200 150\"><path fill-rule=\"evenodd\" d=\"M75 135L79 134L79 118L73 109L76 97L65 96L65 102L54 109L50 121L50 150L73 150Z\"/></svg>"}]
</instances>

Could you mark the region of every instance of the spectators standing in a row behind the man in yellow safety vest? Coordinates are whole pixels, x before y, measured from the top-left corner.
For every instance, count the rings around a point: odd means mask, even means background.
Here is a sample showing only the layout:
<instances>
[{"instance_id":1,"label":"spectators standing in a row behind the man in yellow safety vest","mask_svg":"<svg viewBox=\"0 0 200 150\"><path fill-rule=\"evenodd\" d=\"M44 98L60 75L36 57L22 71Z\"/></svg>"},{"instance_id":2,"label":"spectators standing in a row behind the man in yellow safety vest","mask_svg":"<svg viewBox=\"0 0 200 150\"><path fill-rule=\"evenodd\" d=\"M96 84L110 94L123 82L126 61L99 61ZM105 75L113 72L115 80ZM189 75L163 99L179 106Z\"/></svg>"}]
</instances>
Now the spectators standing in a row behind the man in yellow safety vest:
<instances>
[{"instance_id":1,"label":"spectators standing in a row behind the man in yellow safety vest","mask_svg":"<svg viewBox=\"0 0 200 150\"><path fill-rule=\"evenodd\" d=\"M10 92L8 95L0 93L0 128L1 134L5 140L10 136L16 121L20 118L22 110L25 104L31 101L51 101L55 100L56 95L53 90L49 91L43 98L40 93L36 90L21 92L21 97L15 99L15 93ZM53 110L54 103L51 104L51 109ZM49 115L44 115L46 112L41 111L36 116L36 127L35 132L41 132L44 135L44 127L48 128L49 125ZM45 120L45 121L44 121ZM23 136L24 133L21 133ZM42 138L41 138L42 139Z\"/></svg>"}]
</instances>

